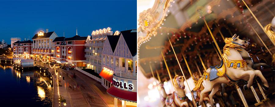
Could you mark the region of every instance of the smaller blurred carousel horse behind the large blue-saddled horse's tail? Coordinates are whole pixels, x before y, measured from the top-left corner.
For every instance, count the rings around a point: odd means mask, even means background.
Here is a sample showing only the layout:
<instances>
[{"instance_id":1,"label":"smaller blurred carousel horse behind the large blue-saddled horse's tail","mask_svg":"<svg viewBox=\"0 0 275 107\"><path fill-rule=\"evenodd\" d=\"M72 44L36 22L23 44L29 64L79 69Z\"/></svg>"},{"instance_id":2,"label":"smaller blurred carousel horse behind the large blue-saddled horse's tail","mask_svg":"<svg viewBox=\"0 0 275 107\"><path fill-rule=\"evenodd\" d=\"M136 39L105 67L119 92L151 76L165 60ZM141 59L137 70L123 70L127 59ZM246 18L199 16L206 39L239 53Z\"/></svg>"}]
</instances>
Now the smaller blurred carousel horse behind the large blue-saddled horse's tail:
<instances>
[{"instance_id":1,"label":"smaller blurred carousel horse behind the large blue-saddled horse's tail","mask_svg":"<svg viewBox=\"0 0 275 107\"><path fill-rule=\"evenodd\" d=\"M165 99L165 105L166 107L189 107L192 106L193 104L192 102L188 99L188 97L185 95L185 91L184 91L184 78L183 76L178 76L176 75L173 79L174 82L174 88L175 91L173 92L173 94L166 94L165 90L163 88L163 95L165 96L165 94L167 95L166 99Z\"/></svg>"}]
</instances>

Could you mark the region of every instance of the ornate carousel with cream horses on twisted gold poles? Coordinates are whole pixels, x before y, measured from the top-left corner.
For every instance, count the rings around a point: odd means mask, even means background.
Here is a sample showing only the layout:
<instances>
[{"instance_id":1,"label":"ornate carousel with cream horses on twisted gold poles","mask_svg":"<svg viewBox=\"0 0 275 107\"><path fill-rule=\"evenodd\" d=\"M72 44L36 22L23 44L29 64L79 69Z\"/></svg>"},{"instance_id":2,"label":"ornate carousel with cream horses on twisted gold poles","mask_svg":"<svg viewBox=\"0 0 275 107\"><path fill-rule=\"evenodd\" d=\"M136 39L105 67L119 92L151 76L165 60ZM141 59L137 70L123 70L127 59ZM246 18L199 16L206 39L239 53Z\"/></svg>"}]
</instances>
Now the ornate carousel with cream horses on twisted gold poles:
<instances>
[{"instance_id":1,"label":"ornate carousel with cream horses on twisted gold poles","mask_svg":"<svg viewBox=\"0 0 275 107\"><path fill-rule=\"evenodd\" d=\"M274 0L156 0L138 19L138 106L275 106Z\"/></svg>"}]
</instances>

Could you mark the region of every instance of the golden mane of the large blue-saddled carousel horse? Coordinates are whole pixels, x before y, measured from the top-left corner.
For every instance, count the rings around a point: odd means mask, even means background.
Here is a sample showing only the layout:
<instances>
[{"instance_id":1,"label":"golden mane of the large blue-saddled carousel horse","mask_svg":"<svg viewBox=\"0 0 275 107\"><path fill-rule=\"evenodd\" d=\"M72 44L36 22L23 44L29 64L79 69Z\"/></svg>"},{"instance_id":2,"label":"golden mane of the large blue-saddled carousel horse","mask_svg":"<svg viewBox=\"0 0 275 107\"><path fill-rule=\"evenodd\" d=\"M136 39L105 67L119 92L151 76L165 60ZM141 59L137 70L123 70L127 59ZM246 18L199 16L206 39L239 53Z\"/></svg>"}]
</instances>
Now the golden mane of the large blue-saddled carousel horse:
<instances>
[{"instance_id":1,"label":"golden mane of the large blue-saddled carousel horse","mask_svg":"<svg viewBox=\"0 0 275 107\"><path fill-rule=\"evenodd\" d=\"M226 43L225 46L223 47L223 53L222 53L222 59L227 62L228 58L227 56L230 55L229 48L234 48L235 44L232 43L233 39L232 38L226 38L224 42Z\"/></svg>"}]
</instances>

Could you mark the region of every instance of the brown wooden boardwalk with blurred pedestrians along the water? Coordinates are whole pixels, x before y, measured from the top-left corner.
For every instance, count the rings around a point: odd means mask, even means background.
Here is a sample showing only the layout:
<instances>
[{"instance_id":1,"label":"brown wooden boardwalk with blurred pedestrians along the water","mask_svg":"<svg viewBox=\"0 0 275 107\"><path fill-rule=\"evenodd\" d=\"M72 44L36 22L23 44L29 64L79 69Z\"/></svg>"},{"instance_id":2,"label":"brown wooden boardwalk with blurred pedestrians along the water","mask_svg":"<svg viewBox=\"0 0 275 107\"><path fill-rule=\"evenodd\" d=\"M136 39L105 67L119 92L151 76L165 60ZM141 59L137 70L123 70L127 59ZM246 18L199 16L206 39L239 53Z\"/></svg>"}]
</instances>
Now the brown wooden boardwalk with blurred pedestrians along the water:
<instances>
[{"instance_id":1,"label":"brown wooden boardwalk with blurred pedestrians along the water","mask_svg":"<svg viewBox=\"0 0 275 107\"><path fill-rule=\"evenodd\" d=\"M41 66L44 66L41 63ZM49 71L54 69L50 68ZM85 74L82 74L76 70L64 70L61 68L56 68L58 71L60 83L62 87L59 87L60 95L66 99L67 105L61 104L61 107L113 107L114 98L109 96L106 89L101 86L96 80L89 78ZM76 78L72 78L72 73L76 74ZM64 76L64 79L62 77ZM54 76L53 76L54 78ZM77 87L76 90L69 89L68 84ZM59 107L58 92L57 92L57 76L54 78L54 98L53 107ZM118 107L121 107L121 102L118 100Z\"/></svg>"}]
</instances>

